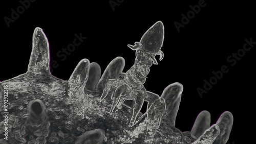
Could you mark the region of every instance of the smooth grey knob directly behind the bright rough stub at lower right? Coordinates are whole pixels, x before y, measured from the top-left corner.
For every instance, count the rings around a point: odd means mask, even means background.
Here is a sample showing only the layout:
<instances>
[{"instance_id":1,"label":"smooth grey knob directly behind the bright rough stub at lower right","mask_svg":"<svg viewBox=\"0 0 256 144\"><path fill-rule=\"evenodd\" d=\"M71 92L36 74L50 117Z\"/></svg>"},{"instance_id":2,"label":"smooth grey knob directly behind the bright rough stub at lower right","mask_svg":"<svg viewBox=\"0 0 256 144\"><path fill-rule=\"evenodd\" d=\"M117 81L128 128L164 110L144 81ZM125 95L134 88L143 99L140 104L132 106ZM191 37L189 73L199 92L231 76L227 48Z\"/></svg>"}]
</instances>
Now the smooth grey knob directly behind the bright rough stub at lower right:
<instances>
[{"instance_id":1,"label":"smooth grey knob directly behind the bright rough stub at lower right","mask_svg":"<svg viewBox=\"0 0 256 144\"><path fill-rule=\"evenodd\" d=\"M210 128L210 113L204 110L198 114L190 134L193 138L198 139L205 132L205 130L209 128Z\"/></svg>"}]
</instances>

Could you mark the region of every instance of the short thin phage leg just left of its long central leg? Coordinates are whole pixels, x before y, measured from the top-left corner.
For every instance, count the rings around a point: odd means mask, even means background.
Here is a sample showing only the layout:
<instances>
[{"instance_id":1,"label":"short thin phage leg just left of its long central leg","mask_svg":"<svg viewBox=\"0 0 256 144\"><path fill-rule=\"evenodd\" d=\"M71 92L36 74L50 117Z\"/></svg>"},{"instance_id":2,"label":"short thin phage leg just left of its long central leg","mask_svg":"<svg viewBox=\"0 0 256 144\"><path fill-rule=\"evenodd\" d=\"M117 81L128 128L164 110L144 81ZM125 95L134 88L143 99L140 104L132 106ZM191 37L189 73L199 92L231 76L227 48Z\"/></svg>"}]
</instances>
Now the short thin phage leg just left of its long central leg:
<instances>
[{"instance_id":1,"label":"short thin phage leg just left of its long central leg","mask_svg":"<svg viewBox=\"0 0 256 144\"><path fill-rule=\"evenodd\" d=\"M116 90L115 93L113 95L113 104L112 107L110 109L110 114L113 113L115 107L118 105L120 98L122 97L123 93L126 92L126 87L124 85L120 85Z\"/></svg>"}]
</instances>

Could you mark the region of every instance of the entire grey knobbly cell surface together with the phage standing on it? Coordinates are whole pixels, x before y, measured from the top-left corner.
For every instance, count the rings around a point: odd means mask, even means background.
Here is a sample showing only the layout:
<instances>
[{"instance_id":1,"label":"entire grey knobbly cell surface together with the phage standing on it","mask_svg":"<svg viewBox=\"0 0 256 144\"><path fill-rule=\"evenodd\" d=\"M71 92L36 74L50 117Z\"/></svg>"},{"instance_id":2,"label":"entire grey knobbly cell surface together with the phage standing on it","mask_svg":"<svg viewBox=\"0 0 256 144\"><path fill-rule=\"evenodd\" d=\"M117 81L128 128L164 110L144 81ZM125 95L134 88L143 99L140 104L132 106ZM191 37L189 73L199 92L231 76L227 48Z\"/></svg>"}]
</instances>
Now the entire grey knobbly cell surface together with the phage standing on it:
<instances>
[{"instance_id":1,"label":"entire grey knobbly cell surface together with the phage standing on it","mask_svg":"<svg viewBox=\"0 0 256 144\"><path fill-rule=\"evenodd\" d=\"M164 26L157 21L135 45L134 65L124 59L100 66L82 59L68 81L50 73L49 43L35 28L27 73L0 83L0 143L226 143L233 116L225 111L210 126L202 111L191 131L175 128L182 84L168 85L161 96L143 84L160 55ZM168 54L166 54L168 55ZM140 112L147 101L147 111Z\"/></svg>"}]
</instances>

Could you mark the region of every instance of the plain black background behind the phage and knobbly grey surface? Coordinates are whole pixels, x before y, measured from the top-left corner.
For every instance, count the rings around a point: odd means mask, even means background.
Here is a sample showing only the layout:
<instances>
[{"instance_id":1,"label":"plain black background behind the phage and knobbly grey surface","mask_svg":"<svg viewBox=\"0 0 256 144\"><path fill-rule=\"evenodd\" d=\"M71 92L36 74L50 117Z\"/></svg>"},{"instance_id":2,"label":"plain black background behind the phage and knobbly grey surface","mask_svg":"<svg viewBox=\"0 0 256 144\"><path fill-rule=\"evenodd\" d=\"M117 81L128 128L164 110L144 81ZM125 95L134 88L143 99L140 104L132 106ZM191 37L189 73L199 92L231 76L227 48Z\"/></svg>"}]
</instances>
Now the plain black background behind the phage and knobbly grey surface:
<instances>
[{"instance_id":1,"label":"plain black background behind the phage and knobbly grey surface","mask_svg":"<svg viewBox=\"0 0 256 144\"><path fill-rule=\"evenodd\" d=\"M250 141L254 129L255 47L246 52L236 65L227 57L243 48L244 39L256 41L254 5L247 2L205 1L206 6L190 19L180 32L174 22L181 23L181 14L187 14L197 1L119 1L114 7L110 1L59 2L35 1L24 13L10 23L11 9L17 10L19 1L2 2L1 71L0 80L26 73L32 50L32 34L36 27L44 30L50 44L51 60L59 64L52 75L68 80L78 62L87 58L97 62L103 73L117 56L125 59L124 72L134 64L134 44L156 21L164 24L162 51L164 58L151 67L144 84L148 91L161 95L166 86L180 82L184 86L176 127L190 131L202 110L211 113L211 124L224 111L233 114L234 122L228 142ZM113 2L117 2L113 0ZM73 42L74 34L87 37L64 61L57 52ZM197 88L203 88L214 76L211 72L229 68L217 84L200 98ZM143 107L142 112L144 112ZM247 143L247 142L242 143Z\"/></svg>"}]
</instances>

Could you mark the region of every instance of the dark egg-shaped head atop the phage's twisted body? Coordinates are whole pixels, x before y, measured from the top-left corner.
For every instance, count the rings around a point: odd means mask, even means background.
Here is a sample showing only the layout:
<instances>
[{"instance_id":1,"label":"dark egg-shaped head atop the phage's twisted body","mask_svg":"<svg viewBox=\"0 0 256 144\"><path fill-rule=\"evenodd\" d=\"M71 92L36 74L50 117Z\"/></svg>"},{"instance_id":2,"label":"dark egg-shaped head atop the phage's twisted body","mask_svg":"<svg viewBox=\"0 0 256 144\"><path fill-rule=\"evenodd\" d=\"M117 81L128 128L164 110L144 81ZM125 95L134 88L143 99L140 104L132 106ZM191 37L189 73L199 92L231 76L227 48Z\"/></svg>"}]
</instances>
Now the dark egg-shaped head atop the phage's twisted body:
<instances>
[{"instance_id":1,"label":"dark egg-shaped head atop the phage's twisted body","mask_svg":"<svg viewBox=\"0 0 256 144\"><path fill-rule=\"evenodd\" d=\"M162 47L164 39L164 27L162 21L157 21L148 29L140 39L143 49L147 52L157 54Z\"/></svg>"}]
</instances>

